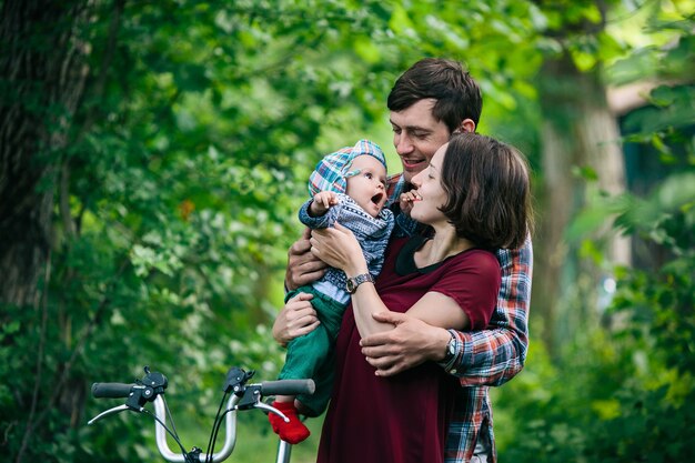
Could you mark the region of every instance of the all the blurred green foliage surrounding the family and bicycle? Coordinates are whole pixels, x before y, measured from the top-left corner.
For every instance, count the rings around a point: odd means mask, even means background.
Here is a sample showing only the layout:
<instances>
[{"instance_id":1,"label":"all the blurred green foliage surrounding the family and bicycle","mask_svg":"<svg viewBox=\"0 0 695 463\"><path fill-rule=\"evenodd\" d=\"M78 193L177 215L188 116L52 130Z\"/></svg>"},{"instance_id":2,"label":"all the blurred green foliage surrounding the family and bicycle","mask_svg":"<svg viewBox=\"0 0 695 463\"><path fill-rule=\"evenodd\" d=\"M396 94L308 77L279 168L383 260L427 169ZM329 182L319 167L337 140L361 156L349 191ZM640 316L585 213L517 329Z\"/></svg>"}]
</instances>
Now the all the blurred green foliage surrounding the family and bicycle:
<instances>
[{"instance_id":1,"label":"all the blurred green foliage surrounding the family and bicycle","mask_svg":"<svg viewBox=\"0 0 695 463\"><path fill-rule=\"evenodd\" d=\"M89 397L90 383L132 381L145 364L168 375L182 434L198 431L197 445L207 442L200 430L229 366L273 379L283 353L268 325L282 301L286 249L300 233L305 178L323 153L355 138L379 133L387 150L385 95L415 60L466 62L485 94L483 131L521 145L532 161L534 79L547 56L570 49L581 69L620 58L608 70L616 82L692 76L694 62L692 18L674 20L681 17L669 10L649 22L668 40L631 50L617 33L583 29L602 20L588 1L90 6L91 22L79 31L89 79L68 121L68 148L38 157L64 181L44 296L32 308L3 306L0 319L0 449L13 461L22 446L23 461L155 460L143 416L85 425L113 405ZM561 38L563 29L572 33ZM674 36L675 46L663 47ZM612 329L582 333L562 364L532 344L526 371L497 393L503 461L633 461L664 442L673 443L664 461L687 456L695 182L692 141L678 129L693 123L694 95L687 85L652 95L653 110L627 121L631 141L652 143L667 162L685 159L691 170L649 198L604 199L570 235L581 240L621 214L621 231L665 246L668 260L653 272L617 273L620 293L605 315ZM40 101L37 92L23 104ZM264 417L244 420L242 435L272 453ZM312 422L314 434L319 425ZM245 452L248 461L258 455Z\"/></svg>"}]
</instances>

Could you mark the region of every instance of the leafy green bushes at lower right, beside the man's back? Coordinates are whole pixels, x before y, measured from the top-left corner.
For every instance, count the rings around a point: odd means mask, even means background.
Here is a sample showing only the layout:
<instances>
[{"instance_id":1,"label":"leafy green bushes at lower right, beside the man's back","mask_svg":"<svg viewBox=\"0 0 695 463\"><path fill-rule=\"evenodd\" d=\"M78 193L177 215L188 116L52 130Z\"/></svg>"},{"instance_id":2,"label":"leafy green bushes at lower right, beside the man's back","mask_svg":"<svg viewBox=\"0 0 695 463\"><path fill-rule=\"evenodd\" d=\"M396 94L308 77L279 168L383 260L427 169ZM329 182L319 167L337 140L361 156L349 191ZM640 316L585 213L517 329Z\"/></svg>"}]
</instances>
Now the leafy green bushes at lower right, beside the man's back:
<instances>
[{"instance_id":1,"label":"leafy green bushes at lower right, beside the man's back","mask_svg":"<svg viewBox=\"0 0 695 463\"><path fill-rule=\"evenodd\" d=\"M695 215L692 207L671 213L664 209L669 217L653 223L641 211L628 208L621 222L648 231L645 236L672 258L656 271L616 269L618 290L605 314L605 328L580 334L560 366L544 362L534 344L530 372L498 393L498 409L514 413L512 419L503 412L496 420L502 459L692 457Z\"/></svg>"}]
</instances>

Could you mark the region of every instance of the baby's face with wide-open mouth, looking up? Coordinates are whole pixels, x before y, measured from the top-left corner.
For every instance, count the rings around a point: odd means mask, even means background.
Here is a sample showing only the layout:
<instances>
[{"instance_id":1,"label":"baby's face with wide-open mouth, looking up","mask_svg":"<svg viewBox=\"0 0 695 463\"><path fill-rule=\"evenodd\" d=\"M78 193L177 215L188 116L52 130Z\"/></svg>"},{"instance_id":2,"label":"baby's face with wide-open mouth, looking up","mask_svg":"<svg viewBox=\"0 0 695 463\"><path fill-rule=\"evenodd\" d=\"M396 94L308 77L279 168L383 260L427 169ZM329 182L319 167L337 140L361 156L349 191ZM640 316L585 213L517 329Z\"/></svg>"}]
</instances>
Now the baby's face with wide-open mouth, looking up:
<instances>
[{"instance_id":1,"label":"baby's face with wide-open mouth, looking up","mask_svg":"<svg viewBox=\"0 0 695 463\"><path fill-rule=\"evenodd\" d=\"M346 179L345 193L370 215L377 217L389 199L386 168L373 155L363 154L352 160L350 170L359 173Z\"/></svg>"}]
</instances>

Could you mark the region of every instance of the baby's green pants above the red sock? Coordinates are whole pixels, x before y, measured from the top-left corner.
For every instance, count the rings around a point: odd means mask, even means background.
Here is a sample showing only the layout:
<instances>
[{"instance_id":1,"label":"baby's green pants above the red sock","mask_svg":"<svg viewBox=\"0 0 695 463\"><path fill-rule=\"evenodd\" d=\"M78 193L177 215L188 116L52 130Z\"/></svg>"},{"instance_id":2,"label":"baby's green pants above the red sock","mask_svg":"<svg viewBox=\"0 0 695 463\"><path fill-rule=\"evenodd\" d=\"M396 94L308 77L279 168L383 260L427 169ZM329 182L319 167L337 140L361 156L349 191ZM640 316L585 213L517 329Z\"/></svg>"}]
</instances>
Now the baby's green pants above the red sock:
<instances>
[{"instance_id":1,"label":"baby's green pants above the red sock","mask_svg":"<svg viewBox=\"0 0 695 463\"><path fill-rule=\"evenodd\" d=\"M302 286L290 292L285 296L285 302L298 293L313 294L311 304L316 311L321 324L311 333L290 341L280 379L314 380L315 392L312 395L299 395L296 400L311 410L312 416L319 416L331 399L335 363L333 348L343 320L345 305L316 292L312 286Z\"/></svg>"}]
</instances>

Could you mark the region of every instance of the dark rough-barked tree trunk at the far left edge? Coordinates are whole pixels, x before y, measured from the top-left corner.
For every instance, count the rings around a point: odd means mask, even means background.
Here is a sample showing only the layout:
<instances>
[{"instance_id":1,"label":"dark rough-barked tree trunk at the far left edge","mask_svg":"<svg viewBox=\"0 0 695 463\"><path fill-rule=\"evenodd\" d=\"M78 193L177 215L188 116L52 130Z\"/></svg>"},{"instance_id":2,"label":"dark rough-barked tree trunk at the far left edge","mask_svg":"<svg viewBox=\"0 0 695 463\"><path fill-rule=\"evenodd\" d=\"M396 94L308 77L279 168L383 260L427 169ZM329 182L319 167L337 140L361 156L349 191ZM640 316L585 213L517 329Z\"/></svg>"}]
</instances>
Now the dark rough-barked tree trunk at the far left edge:
<instances>
[{"instance_id":1,"label":"dark rough-barked tree trunk at the far left edge","mask_svg":"<svg viewBox=\"0 0 695 463\"><path fill-rule=\"evenodd\" d=\"M57 153L81 98L87 1L8 0L0 12L0 303L34 305L51 248Z\"/></svg>"}]
</instances>

